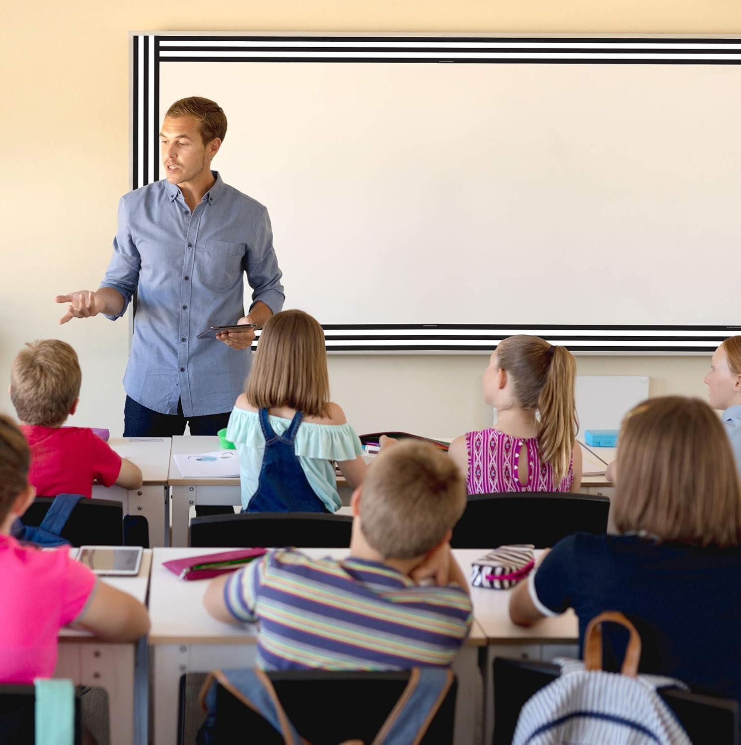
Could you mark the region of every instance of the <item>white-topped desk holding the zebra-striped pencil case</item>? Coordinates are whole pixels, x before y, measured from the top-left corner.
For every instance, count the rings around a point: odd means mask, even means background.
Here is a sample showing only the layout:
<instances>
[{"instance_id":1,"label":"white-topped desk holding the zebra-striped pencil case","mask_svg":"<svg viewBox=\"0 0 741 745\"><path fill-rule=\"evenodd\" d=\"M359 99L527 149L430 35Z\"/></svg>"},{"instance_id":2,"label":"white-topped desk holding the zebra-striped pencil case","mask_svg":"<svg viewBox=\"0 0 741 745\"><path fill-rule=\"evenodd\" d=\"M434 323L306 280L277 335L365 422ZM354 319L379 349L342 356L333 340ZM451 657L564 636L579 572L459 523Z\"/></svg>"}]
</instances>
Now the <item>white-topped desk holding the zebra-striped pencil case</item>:
<instances>
[{"instance_id":1,"label":"white-topped desk holding the zebra-striped pencil case","mask_svg":"<svg viewBox=\"0 0 741 745\"><path fill-rule=\"evenodd\" d=\"M468 576L471 563L486 554L486 549L457 548L455 557ZM542 551L535 551L535 557ZM471 588L474 618L486 635L486 662L483 670L483 733L484 742L491 743L494 732L494 696L492 664L494 657L535 659L550 662L554 657L579 656L579 621L569 610L555 618L544 618L531 627L517 626L509 620L509 596L512 589L493 590Z\"/></svg>"}]
</instances>

